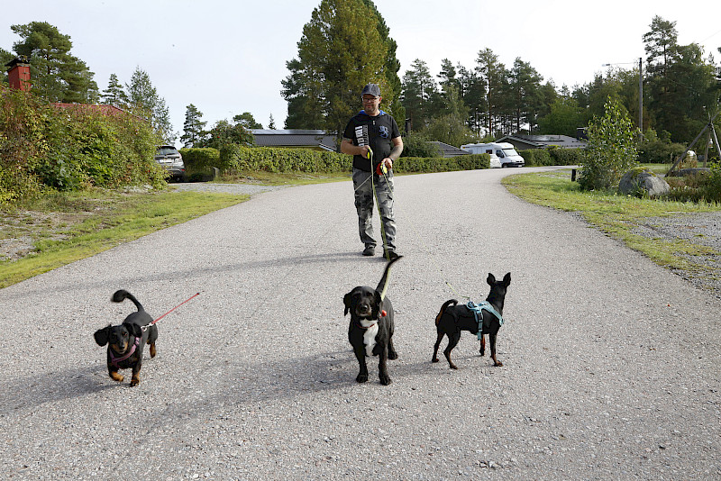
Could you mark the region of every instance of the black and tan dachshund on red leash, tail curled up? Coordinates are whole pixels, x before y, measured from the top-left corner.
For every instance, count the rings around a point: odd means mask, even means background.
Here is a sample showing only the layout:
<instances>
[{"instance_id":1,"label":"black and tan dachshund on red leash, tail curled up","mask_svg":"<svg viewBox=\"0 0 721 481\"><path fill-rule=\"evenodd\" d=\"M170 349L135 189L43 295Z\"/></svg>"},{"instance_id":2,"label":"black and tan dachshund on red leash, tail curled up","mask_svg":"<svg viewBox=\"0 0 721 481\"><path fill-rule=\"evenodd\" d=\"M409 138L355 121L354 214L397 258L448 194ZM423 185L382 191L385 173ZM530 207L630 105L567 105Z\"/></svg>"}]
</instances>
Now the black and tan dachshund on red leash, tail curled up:
<instances>
[{"instance_id":1,"label":"black and tan dachshund on red leash, tail curled up","mask_svg":"<svg viewBox=\"0 0 721 481\"><path fill-rule=\"evenodd\" d=\"M99 346L107 344L107 370L110 377L122 383L123 375L118 374L118 369L132 368L131 386L138 386L142 367L142 348L145 344L151 345L151 358L155 357L155 341L158 340L158 326L148 326L152 317L142 308L141 303L128 291L119 290L113 295L114 303L122 303L130 299L132 304L138 308L137 313L132 313L125 318L119 326L108 325L105 329L96 331L96 342Z\"/></svg>"}]
</instances>

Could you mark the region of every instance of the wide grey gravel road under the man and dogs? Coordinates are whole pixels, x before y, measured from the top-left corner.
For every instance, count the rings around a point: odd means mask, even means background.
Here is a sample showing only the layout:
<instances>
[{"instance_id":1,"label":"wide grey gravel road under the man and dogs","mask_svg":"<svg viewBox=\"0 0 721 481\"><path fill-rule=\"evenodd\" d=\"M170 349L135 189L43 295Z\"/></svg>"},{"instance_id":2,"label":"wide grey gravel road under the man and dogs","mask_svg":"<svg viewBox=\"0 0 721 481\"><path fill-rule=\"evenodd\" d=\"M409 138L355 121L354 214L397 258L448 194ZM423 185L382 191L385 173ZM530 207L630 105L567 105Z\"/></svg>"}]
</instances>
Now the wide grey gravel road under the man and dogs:
<instances>
[{"instance_id":1,"label":"wide grey gravel road under the man and dogs","mask_svg":"<svg viewBox=\"0 0 721 481\"><path fill-rule=\"evenodd\" d=\"M721 478L721 301L508 194L513 172L397 177L390 386L376 359L355 382L342 316L383 268L360 256L350 182L255 195L0 290L3 477ZM488 272L512 275L504 367L468 332L458 371L432 364L438 308L484 299ZM92 335L132 312L118 288L156 317L201 293L158 324L132 388Z\"/></svg>"}]
</instances>

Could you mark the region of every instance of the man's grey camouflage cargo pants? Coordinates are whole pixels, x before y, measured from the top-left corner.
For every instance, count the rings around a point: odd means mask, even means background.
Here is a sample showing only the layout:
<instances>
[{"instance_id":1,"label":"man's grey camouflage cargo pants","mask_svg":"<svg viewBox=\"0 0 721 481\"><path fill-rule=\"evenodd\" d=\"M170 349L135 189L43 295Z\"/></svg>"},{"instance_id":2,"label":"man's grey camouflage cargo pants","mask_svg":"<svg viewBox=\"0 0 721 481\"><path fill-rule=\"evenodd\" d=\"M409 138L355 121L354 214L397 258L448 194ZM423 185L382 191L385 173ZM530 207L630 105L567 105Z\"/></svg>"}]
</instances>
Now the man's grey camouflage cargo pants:
<instances>
[{"instance_id":1,"label":"man's grey camouflage cargo pants","mask_svg":"<svg viewBox=\"0 0 721 481\"><path fill-rule=\"evenodd\" d=\"M396 250L396 221L393 218L393 173L373 177L371 173L353 168L353 187L355 188L355 208L358 211L358 233L360 241L366 247L376 246L373 239L373 184L376 186L380 211L380 235L384 250Z\"/></svg>"}]
</instances>

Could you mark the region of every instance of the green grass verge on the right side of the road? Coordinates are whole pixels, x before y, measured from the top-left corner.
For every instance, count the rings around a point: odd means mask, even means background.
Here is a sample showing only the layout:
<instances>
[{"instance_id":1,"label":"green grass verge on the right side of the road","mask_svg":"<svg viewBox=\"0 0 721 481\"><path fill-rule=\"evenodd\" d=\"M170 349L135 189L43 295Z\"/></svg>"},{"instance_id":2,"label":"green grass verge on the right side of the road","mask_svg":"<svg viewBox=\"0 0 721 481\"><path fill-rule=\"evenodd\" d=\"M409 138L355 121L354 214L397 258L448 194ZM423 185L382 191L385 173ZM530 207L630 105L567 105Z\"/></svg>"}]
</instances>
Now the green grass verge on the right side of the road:
<instances>
[{"instance_id":1,"label":"green grass verge on the right side of the road","mask_svg":"<svg viewBox=\"0 0 721 481\"><path fill-rule=\"evenodd\" d=\"M587 222L665 268L707 274L707 267L692 262L695 256L717 255L715 250L689 241L668 241L635 234L651 217L720 211L716 204L640 199L608 192L581 191L570 181L570 170L519 174L503 179L508 191L533 204L579 213Z\"/></svg>"}]
</instances>

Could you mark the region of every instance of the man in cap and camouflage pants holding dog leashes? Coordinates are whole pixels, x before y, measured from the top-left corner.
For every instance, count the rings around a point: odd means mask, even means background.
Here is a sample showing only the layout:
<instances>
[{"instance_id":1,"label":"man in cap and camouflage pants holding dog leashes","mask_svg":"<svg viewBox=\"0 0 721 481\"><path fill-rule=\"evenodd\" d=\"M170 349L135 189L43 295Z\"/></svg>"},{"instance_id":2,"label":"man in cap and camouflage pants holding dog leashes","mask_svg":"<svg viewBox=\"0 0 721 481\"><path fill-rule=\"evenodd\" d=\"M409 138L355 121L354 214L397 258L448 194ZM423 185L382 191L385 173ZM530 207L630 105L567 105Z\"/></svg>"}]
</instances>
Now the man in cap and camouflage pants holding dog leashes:
<instances>
[{"instance_id":1,"label":"man in cap and camouflage pants holding dog leashes","mask_svg":"<svg viewBox=\"0 0 721 481\"><path fill-rule=\"evenodd\" d=\"M351 118L343 132L341 151L353 156L353 187L358 211L358 233L364 256L376 253L373 239L373 189L380 212L383 255L396 259L396 221L393 218L393 161L403 151L396 120L380 110L380 87L368 84L360 95L363 110Z\"/></svg>"}]
</instances>

